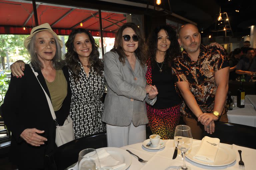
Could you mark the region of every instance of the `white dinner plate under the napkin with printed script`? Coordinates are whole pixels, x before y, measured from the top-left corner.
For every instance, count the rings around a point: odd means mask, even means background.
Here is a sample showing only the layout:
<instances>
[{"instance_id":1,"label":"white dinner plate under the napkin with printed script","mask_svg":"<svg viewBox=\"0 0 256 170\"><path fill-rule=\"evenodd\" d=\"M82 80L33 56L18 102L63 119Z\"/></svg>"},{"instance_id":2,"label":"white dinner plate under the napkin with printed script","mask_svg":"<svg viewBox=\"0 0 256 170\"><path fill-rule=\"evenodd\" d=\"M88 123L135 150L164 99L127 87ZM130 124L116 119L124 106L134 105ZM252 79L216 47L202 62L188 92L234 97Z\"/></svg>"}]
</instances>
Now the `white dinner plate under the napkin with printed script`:
<instances>
[{"instance_id":1,"label":"white dinner plate under the napkin with printed script","mask_svg":"<svg viewBox=\"0 0 256 170\"><path fill-rule=\"evenodd\" d=\"M227 145L220 143L219 149L215 158L215 162L205 162L194 158L196 151L201 143L201 140L193 141L192 147L186 153L186 157L198 164L206 166L226 166L233 163L236 160L236 153Z\"/></svg>"}]
</instances>

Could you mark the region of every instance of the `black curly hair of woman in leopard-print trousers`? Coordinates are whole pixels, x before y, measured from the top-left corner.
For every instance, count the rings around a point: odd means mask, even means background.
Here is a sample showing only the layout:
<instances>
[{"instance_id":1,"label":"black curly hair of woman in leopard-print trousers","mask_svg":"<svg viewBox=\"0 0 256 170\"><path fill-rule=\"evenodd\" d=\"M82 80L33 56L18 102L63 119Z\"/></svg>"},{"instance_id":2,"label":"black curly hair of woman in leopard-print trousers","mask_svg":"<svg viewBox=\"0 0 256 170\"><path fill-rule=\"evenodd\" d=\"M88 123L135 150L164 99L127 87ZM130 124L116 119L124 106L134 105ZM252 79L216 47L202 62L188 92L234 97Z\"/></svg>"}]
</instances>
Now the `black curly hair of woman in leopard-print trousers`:
<instances>
[{"instance_id":1,"label":"black curly hair of woman in leopard-print trousers","mask_svg":"<svg viewBox=\"0 0 256 170\"><path fill-rule=\"evenodd\" d=\"M165 30L166 34L169 36L169 40L171 41L170 48L167 49L166 55L165 55L165 63L163 67L166 68L171 66L173 57L179 54L181 50L178 43L177 33L169 25L157 26L153 30L153 32L151 32L147 40L147 51L148 51L148 56L151 62L156 62L158 33L160 30Z\"/></svg>"}]
</instances>

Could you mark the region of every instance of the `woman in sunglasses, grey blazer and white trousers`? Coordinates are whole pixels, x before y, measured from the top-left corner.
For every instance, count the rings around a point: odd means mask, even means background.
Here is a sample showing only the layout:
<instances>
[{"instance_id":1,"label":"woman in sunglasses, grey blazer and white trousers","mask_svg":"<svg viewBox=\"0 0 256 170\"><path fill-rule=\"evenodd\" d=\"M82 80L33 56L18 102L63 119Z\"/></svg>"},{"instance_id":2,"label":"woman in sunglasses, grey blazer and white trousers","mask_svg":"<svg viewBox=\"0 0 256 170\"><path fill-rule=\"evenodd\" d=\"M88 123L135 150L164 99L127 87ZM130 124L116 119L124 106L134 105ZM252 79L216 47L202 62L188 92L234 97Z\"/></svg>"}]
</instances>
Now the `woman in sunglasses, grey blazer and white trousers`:
<instances>
[{"instance_id":1,"label":"woman in sunglasses, grey blazer and white trousers","mask_svg":"<svg viewBox=\"0 0 256 170\"><path fill-rule=\"evenodd\" d=\"M142 142L148 123L145 101L153 104L158 92L146 85L144 38L134 23L119 28L113 49L103 59L108 93L102 121L107 123L108 146Z\"/></svg>"}]
</instances>

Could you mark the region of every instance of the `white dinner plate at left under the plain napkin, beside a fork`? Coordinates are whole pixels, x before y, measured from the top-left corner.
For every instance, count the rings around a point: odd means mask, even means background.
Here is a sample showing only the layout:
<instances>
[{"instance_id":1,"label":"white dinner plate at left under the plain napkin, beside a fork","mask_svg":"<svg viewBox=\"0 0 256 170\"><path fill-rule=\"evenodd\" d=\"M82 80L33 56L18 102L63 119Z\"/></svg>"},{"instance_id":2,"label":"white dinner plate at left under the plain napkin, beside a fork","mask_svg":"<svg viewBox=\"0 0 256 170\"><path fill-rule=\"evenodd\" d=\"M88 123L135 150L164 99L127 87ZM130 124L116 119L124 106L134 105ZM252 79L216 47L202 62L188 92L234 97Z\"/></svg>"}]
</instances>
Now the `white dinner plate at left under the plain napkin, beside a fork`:
<instances>
[{"instance_id":1,"label":"white dinner plate at left under the plain napkin, beside a fork","mask_svg":"<svg viewBox=\"0 0 256 170\"><path fill-rule=\"evenodd\" d=\"M125 163L125 166L120 167L116 170L126 170L131 165L132 156L126 150L121 149L121 148L115 148L115 147L105 147L105 148L96 149L96 151L99 152L102 149L105 149L113 158L120 161L120 164Z\"/></svg>"}]
</instances>

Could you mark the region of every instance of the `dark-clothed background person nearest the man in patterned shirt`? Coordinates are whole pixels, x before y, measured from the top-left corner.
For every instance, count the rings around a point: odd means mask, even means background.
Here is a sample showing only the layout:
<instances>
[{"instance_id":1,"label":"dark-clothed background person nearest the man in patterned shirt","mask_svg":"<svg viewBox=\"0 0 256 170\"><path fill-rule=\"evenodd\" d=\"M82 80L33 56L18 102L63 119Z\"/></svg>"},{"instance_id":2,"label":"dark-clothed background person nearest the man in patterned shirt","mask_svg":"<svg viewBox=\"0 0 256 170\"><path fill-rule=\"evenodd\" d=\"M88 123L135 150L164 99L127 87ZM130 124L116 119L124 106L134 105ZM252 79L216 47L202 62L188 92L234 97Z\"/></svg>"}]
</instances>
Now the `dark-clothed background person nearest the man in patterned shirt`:
<instances>
[{"instance_id":1,"label":"dark-clothed background person nearest the man in patterned shirt","mask_svg":"<svg viewBox=\"0 0 256 170\"><path fill-rule=\"evenodd\" d=\"M236 65L243 56L243 52L240 48L236 48L234 51L231 52L231 57L229 58L229 80L236 80L238 75L236 74Z\"/></svg>"}]
</instances>

